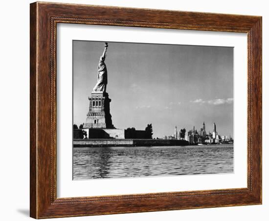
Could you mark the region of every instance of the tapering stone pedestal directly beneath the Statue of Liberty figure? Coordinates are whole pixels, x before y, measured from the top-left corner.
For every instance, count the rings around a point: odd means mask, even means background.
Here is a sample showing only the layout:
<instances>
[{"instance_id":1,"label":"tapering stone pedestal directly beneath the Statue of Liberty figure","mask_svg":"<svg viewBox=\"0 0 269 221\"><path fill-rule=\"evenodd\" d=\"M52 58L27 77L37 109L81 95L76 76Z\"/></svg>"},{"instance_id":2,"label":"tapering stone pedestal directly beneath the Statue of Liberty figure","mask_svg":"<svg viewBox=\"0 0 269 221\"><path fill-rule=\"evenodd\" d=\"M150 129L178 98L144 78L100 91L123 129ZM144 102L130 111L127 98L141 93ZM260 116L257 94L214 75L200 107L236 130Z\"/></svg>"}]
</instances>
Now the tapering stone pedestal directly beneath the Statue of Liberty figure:
<instances>
[{"instance_id":1,"label":"tapering stone pedestal directly beneath the Statue of Liberty figure","mask_svg":"<svg viewBox=\"0 0 269 221\"><path fill-rule=\"evenodd\" d=\"M113 129L109 94L107 92L91 92L90 107L83 128Z\"/></svg>"}]
</instances>

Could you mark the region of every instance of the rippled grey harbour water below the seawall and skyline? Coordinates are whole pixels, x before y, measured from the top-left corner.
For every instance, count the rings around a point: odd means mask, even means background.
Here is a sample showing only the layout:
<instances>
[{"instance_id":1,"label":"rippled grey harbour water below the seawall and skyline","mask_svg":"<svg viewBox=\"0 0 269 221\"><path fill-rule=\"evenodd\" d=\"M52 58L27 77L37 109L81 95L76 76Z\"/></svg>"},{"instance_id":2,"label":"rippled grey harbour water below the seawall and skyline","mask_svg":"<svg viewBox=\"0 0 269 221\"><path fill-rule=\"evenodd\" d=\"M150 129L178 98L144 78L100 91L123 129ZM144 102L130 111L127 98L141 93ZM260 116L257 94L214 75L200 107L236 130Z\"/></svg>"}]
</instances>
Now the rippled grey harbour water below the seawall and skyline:
<instances>
[{"instance_id":1,"label":"rippled grey harbour water below the seawall and skyline","mask_svg":"<svg viewBox=\"0 0 269 221\"><path fill-rule=\"evenodd\" d=\"M78 147L73 179L233 173L233 145Z\"/></svg>"}]
</instances>

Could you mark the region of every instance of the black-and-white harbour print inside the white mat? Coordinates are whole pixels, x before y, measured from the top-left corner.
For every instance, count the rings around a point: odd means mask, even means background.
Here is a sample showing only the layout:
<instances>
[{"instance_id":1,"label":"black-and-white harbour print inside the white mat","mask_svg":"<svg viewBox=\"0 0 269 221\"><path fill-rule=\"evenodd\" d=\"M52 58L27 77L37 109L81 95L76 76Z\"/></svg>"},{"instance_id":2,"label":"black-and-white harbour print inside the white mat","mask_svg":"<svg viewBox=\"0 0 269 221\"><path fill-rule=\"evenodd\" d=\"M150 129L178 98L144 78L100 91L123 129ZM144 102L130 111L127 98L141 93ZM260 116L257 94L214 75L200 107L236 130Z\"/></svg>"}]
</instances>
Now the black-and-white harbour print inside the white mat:
<instances>
[{"instance_id":1,"label":"black-and-white harbour print inside the white mat","mask_svg":"<svg viewBox=\"0 0 269 221\"><path fill-rule=\"evenodd\" d=\"M73 179L233 173L233 47L73 41Z\"/></svg>"}]
</instances>

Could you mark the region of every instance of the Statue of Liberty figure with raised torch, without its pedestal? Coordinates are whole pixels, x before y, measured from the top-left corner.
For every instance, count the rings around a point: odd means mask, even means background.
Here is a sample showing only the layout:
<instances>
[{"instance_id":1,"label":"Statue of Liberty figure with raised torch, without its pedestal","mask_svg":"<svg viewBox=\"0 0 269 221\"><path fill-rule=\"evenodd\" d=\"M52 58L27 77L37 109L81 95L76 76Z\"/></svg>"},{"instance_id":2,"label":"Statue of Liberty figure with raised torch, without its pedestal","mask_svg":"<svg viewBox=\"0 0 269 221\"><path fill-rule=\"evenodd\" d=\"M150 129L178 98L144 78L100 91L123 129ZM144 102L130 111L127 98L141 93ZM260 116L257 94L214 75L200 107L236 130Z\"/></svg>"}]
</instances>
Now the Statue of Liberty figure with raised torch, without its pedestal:
<instances>
[{"instance_id":1,"label":"Statue of Liberty figure with raised torch, without its pedestal","mask_svg":"<svg viewBox=\"0 0 269 221\"><path fill-rule=\"evenodd\" d=\"M98 64L98 78L97 83L93 88L93 91L104 91L106 92L107 84L108 84L108 70L105 64L105 59L108 51L108 43L105 43L105 48L102 56L100 57Z\"/></svg>"}]
</instances>

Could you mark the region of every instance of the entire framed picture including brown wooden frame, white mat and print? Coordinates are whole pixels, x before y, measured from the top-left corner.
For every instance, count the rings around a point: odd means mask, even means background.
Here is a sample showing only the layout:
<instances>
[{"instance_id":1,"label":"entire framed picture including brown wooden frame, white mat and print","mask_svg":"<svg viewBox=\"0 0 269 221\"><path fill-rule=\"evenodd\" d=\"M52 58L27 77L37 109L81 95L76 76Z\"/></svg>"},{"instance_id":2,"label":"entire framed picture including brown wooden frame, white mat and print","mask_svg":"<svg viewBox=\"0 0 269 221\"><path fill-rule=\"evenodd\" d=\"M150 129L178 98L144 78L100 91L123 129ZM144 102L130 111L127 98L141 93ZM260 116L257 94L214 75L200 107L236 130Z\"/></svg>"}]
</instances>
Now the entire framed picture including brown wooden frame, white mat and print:
<instances>
[{"instance_id":1,"label":"entire framed picture including brown wooden frame, white mat and print","mask_svg":"<svg viewBox=\"0 0 269 221\"><path fill-rule=\"evenodd\" d=\"M262 18L30 4L30 216L262 203Z\"/></svg>"}]
</instances>

